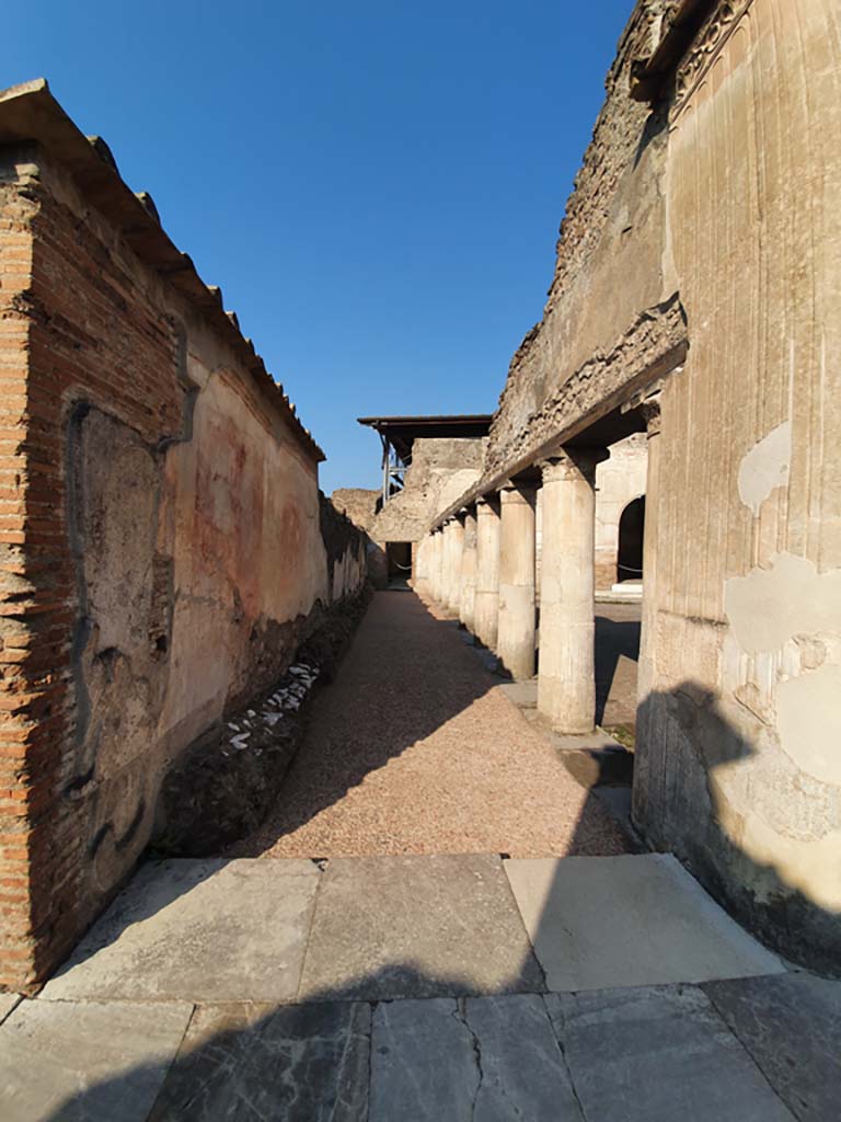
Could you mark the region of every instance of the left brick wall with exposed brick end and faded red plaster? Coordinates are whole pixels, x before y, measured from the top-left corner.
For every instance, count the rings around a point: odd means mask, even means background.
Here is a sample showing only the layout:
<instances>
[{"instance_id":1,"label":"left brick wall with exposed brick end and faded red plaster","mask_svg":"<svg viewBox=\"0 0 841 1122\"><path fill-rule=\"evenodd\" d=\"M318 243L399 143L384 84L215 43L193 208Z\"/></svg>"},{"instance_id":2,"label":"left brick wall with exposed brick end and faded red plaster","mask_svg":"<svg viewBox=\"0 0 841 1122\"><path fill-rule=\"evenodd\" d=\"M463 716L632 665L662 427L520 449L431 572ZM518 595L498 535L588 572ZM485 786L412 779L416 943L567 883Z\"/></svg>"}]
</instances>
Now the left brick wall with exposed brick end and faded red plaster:
<instances>
[{"instance_id":1,"label":"left brick wall with exposed brick end and faded red plaster","mask_svg":"<svg viewBox=\"0 0 841 1122\"><path fill-rule=\"evenodd\" d=\"M22 986L133 866L169 764L362 570L361 540L325 548L317 448L239 334L44 150L0 155L0 983Z\"/></svg>"}]
</instances>

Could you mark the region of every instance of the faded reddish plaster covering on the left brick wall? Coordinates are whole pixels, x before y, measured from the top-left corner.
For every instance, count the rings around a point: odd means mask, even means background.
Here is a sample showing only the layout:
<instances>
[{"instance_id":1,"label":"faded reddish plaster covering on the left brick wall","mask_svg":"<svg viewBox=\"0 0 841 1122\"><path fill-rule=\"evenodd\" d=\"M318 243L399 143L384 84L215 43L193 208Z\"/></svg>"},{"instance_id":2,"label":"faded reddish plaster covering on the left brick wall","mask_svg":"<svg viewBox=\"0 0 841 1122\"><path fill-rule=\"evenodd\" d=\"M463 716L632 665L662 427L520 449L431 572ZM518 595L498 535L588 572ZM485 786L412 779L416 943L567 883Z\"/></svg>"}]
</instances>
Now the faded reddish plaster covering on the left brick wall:
<instances>
[{"instance_id":1,"label":"faded reddish plaster covering on the left brick wall","mask_svg":"<svg viewBox=\"0 0 841 1122\"><path fill-rule=\"evenodd\" d=\"M146 845L170 762L268 687L316 601L348 586L343 559L329 583L315 465L210 334L185 348L187 439L150 447L100 395L68 430L92 899Z\"/></svg>"}]
</instances>

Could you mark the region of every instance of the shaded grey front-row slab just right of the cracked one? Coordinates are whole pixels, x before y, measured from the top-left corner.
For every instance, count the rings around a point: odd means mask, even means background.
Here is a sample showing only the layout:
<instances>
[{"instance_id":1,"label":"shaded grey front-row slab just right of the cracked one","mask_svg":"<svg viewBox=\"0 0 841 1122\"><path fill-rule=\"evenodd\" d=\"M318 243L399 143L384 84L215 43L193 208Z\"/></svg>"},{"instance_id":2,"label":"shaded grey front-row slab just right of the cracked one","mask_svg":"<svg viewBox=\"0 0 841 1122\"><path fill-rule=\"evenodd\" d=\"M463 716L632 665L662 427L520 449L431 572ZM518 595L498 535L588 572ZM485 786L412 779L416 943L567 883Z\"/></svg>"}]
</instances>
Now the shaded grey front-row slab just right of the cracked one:
<instances>
[{"instance_id":1,"label":"shaded grey front-row slab just right of the cracked one","mask_svg":"<svg viewBox=\"0 0 841 1122\"><path fill-rule=\"evenodd\" d=\"M694 986L551 994L588 1122L793 1122Z\"/></svg>"}]
</instances>

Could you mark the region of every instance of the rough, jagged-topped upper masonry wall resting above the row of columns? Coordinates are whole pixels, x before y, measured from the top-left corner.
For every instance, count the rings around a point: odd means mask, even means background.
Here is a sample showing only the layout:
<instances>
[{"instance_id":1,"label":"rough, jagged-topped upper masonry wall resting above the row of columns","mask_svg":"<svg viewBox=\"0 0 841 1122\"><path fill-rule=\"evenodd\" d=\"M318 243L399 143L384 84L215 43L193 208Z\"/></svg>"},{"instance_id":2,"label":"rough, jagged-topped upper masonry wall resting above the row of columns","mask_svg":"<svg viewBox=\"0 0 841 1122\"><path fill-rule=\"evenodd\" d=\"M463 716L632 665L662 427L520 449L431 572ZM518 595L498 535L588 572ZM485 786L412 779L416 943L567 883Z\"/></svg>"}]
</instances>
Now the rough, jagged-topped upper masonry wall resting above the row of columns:
<instances>
[{"instance_id":1,"label":"rough, jagged-topped upper masonry wall resting above the row of columns","mask_svg":"<svg viewBox=\"0 0 841 1122\"><path fill-rule=\"evenodd\" d=\"M643 0L619 43L561 226L543 320L511 360L491 426L489 479L607 412L636 378L669 369L685 344L675 278L663 268L666 118L629 96L635 63L653 50L669 7Z\"/></svg>"}]
</instances>

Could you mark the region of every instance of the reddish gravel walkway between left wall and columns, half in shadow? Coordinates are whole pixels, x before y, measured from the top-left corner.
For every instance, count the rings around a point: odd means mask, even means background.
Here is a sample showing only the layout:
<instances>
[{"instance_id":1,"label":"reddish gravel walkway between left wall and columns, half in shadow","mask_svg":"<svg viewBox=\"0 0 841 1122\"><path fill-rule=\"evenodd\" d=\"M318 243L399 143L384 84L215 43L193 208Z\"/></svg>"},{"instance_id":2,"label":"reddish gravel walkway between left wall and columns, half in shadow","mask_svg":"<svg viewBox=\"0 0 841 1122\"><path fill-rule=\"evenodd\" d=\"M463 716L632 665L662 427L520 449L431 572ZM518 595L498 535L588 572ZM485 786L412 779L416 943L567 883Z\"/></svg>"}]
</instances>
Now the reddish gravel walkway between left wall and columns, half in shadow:
<instances>
[{"instance_id":1,"label":"reddish gravel walkway between left wall and columns, half in shadow","mask_svg":"<svg viewBox=\"0 0 841 1122\"><path fill-rule=\"evenodd\" d=\"M628 849L456 624L378 592L267 821L232 856Z\"/></svg>"}]
</instances>

